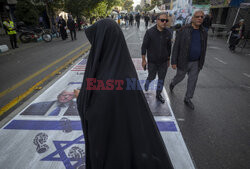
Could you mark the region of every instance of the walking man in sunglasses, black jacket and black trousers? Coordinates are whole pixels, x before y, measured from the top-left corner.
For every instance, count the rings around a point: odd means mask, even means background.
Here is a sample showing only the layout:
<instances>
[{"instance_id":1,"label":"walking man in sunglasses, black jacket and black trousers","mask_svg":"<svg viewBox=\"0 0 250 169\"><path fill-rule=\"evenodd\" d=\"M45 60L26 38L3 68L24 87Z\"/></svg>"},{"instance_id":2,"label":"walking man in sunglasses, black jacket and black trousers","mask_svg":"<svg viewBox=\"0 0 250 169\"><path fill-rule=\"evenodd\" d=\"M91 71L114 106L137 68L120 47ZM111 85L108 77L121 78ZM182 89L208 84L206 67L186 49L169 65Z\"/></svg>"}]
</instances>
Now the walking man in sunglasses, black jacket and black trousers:
<instances>
[{"instance_id":1,"label":"walking man in sunglasses, black jacket and black trousers","mask_svg":"<svg viewBox=\"0 0 250 169\"><path fill-rule=\"evenodd\" d=\"M171 54L171 33L166 28L168 17L165 13L157 16L157 24L146 31L141 47L142 67L148 61L148 78L145 83L145 90L148 90L149 83L155 79L158 74L159 80L157 84L156 98L164 103L165 100L161 96L164 85L164 79L169 67L169 60ZM146 61L147 53L147 61Z\"/></svg>"}]
</instances>

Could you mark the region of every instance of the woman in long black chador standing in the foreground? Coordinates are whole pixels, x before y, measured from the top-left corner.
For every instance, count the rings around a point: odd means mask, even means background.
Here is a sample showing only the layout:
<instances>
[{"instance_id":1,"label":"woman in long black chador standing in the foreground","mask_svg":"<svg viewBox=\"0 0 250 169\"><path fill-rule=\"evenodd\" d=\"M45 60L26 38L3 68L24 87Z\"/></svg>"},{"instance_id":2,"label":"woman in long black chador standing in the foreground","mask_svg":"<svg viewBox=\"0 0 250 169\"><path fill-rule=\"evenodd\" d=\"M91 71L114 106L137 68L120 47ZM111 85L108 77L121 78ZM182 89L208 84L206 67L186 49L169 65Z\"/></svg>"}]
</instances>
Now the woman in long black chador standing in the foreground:
<instances>
[{"instance_id":1,"label":"woman in long black chador standing in the foreground","mask_svg":"<svg viewBox=\"0 0 250 169\"><path fill-rule=\"evenodd\" d=\"M127 78L138 77L120 27L104 19L87 28L86 35L92 47L77 99L86 169L172 169L143 91L126 90ZM114 82L113 90L87 90L98 87L88 84L89 78L102 80L105 87L107 80L124 83L117 88Z\"/></svg>"}]
</instances>

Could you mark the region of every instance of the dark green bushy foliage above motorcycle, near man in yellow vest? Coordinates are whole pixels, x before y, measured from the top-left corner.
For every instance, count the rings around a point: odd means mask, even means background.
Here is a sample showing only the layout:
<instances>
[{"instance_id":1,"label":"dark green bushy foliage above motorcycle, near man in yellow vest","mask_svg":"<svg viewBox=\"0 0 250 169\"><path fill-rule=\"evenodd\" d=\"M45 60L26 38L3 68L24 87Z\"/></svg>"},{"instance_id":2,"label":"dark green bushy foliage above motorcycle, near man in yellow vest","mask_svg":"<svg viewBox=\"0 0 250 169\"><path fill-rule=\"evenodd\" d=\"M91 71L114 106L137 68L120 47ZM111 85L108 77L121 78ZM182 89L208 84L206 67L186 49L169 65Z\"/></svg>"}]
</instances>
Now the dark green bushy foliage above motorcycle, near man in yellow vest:
<instances>
[{"instance_id":1,"label":"dark green bushy foliage above motorcycle, near man in yellow vest","mask_svg":"<svg viewBox=\"0 0 250 169\"><path fill-rule=\"evenodd\" d=\"M36 25L38 23L38 11L30 0L17 1L15 16L18 21L23 21L27 25Z\"/></svg>"}]
</instances>

